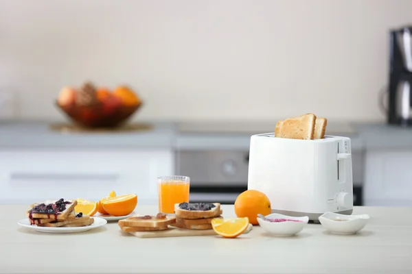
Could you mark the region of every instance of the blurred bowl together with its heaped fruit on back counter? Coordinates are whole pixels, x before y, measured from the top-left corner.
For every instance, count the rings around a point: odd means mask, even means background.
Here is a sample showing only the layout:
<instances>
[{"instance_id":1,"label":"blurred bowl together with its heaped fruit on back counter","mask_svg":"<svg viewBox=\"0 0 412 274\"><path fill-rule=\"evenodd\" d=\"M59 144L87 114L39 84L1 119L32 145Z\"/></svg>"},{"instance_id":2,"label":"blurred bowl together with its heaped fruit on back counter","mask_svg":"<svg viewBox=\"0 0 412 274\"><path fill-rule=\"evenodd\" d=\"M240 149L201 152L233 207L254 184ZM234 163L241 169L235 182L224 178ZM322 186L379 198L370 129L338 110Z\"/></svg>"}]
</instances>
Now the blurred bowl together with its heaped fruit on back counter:
<instances>
[{"instance_id":1,"label":"blurred bowl together with its heaped fruit on back counter","mask_svg":"<svg viewBox=\"0 0 412 274\"><path fill-rule=\"evenodd\" d=\"M117 127L130 118L142 102L130 87L118 86L111 92L86 82L80 88L62 88L57 105L73 122L84 127Z\"/></svg>"}]
</instances>

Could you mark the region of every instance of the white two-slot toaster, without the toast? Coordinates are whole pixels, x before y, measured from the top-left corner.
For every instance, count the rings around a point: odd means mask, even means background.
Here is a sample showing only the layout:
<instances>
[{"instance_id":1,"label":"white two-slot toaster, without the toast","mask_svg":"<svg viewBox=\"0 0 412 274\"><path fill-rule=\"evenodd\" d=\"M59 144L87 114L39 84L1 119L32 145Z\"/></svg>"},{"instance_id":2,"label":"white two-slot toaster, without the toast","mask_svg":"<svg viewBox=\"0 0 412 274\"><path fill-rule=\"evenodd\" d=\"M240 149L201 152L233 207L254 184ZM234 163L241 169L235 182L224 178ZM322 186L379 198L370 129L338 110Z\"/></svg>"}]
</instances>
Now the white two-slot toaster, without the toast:
<instances>
[{"instance_id":1,"label":"white two-slot toaster, without the toast","mask_svg":"<svg viewBox=\"0 0 412 274\"><path fill-rule=\"evenodd\" d=\"M271 201L273 213L308 216L325 212L352 214L353 182L350 138L318 140L251 136L248 189Z\"/></svg>"}]
</instances>

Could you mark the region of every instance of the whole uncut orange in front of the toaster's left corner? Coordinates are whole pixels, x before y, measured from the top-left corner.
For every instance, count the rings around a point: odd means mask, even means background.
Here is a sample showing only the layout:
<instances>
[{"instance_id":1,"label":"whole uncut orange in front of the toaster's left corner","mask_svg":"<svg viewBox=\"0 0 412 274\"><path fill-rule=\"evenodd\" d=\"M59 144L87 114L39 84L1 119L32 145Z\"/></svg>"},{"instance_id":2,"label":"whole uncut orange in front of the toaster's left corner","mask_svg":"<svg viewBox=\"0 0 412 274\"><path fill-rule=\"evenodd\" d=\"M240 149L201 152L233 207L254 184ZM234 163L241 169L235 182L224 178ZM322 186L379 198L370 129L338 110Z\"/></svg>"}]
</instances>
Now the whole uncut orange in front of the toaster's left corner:
<instances>
[{"instance_id":1,"label":"whole uncut orange in front of the toaster's left corner","mask_svg":"<svg viewBox=\"0 0 412 274\"><path fill-rule=\"evenodd\" d=\"M271 214L271 201L258 190L246 190L236 198L235 213L239 218L248 217L249 223L258 225L258 214Z\"/></svg>"}]
</instances>

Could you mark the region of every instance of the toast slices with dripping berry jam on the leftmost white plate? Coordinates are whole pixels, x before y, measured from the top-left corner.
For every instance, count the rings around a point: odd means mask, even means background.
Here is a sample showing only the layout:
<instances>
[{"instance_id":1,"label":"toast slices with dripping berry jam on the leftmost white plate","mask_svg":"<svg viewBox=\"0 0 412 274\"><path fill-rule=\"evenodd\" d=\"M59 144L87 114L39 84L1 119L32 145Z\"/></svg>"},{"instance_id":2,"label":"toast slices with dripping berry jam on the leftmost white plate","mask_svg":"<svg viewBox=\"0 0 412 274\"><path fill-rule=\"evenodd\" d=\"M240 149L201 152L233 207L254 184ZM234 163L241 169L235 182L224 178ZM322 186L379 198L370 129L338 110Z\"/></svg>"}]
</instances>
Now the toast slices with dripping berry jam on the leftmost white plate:
<instances>
[{"instance_id":1,"label":"toast slices with dripping berry jam on the leftmost white plate","mask_svg":"<svg viewBox=\"0 0 412 274\"><path fill-rule=\"evenodd\" d=\"M26 211L31 225L38 227L83 227L91 225L94 219L75 212L76 200L48 200L34 203Z\"/></svg>"}]
</instances>

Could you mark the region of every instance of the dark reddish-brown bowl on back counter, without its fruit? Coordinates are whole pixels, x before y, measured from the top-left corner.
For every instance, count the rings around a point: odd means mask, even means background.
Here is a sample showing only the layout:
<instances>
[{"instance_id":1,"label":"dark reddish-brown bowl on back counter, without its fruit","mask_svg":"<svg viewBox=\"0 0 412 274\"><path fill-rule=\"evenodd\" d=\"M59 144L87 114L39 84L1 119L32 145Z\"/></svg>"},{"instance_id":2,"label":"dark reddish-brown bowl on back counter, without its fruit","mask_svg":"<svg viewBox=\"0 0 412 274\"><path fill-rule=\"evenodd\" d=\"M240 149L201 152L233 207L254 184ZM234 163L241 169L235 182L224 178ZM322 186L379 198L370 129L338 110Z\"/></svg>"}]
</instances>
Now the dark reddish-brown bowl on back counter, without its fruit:
<instances>
[{"instance_id":1,"label":"dark reddish-brown bowl on back counter, without its fruit","mask_svg":"<svg viewBox=\"0 0 412 274\"><path fill-rule=\"evenodd\" d=\"M141 107L138 105L117 105L111 108L107 105L56 105L73 123L83 127L118 127Z\"/></svg>"}]
</instances>

